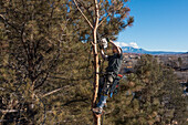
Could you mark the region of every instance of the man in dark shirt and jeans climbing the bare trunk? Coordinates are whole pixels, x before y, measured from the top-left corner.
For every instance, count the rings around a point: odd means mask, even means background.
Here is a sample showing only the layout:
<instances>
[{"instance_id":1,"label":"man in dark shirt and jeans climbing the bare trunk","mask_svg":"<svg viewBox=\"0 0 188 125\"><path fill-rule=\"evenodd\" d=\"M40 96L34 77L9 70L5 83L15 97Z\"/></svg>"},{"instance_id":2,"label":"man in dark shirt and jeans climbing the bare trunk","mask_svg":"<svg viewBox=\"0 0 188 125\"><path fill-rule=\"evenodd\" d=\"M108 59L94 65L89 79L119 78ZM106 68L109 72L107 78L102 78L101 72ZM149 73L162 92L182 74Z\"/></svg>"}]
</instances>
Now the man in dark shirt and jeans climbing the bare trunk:
<instances>
[{"instance_id":1,"label":"man in dark shirt and jeans climbing the bare trunk","mask_svg":"<svg viewBox=\"0 0 188 125\"><path fill-rule=\"evenodd\" d=\"M104 50L103 49L101 50L102 58L104 60L108 61L108 66L106 67L105 82L104 82L104 85L103 85L103 88L101 92L100 102L97 103L96 107L93 108L93 112L96 114L103 113L103 107L106 104L106 100L109 94L111 86L112 86L115 77L117 77L117 75L118 75L121 64L123 61L122 49L119 46L117 46L112 40L102 39L101 42L102 42L103 48L106 48L107 42L113 45L112 46L113 55L106 55L104 53Z\"/></svg>"}]
</instances>

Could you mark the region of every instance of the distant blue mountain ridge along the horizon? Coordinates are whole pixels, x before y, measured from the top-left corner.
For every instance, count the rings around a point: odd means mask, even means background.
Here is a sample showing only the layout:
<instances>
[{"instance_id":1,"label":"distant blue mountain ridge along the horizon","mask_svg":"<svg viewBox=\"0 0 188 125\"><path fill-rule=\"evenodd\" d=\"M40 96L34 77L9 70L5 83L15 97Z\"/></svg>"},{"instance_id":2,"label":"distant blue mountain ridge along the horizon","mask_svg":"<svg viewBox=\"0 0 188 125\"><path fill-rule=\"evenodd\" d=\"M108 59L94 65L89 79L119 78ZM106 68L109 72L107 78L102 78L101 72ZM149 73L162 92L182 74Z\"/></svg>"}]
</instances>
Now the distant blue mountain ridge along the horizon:
<instances>
[{"instance_id":1,"label":"distant blue mountain ridge along the horizon","mask_svg":"<svg viewBox=\"0 0 188 125\"><path fill-rule=\"evenodd\" d=\"M186 52L166 52L166 51L146 51L144 49L135 49L133 46L122 46L124 53L138 53L138 54L184 54Z\"/></svg>"}]
</instances>

